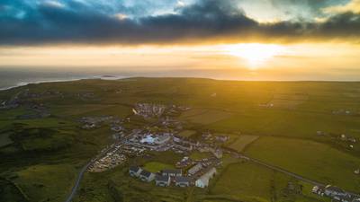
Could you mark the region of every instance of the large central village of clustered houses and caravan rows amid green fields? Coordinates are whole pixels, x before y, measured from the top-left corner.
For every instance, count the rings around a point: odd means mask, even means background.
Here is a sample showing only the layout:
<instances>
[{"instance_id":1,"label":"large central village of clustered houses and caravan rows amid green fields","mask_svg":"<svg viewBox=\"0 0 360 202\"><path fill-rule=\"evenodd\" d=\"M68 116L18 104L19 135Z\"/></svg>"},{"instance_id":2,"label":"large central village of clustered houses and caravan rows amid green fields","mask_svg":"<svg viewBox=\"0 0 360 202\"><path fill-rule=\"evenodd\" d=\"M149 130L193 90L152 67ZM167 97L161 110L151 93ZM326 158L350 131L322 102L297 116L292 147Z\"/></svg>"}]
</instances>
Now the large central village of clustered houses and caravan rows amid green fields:
<instances>
[{"instance_id":1,"label":"large central village of clustered houses and caravan rows amid green fields","mask_svg":"<svg viewBox=\"0 0 360 202\"><path fill-rule=\"evenodd\" d=\"M183 154L184 158L176 162L176 169L165 169L157 173L152 173L139 165L131 165L129 174L145 182L155 181L157 186L170 186L174 184L178 187L196 186L206 188L211 178L217 173L217 167L221 165L222 149L205 143L205 141L192 141L189 138L178 136L181 123L172 119L170 114L177 114L181 110L188 108L177 107L175 105L166 107L163 105L151 105L140 103L135 106L133 113L144 119L158 118L160 126L134 128L125 131L121 127L119 119L111 116L85 117L80 120L84 129L99 127L103 122L110 124L111 130L115 133L112 137L115 143L105 148L99 157L89 166L88 171L101 172L112 169L113 167L126 161L128 157L142 156L149 151L166 152L172 151L175 154ZM165 118L162 115L166 115ZM124 121L129 121L125 119ZM170 130L169 127L172 129ZM219 141L223 141L217 137ZM203 135L203 140L208 140L209 135ZM188 155L192 152L209 153L208 158L193 160Z\"/></svg>"}]
</instances>

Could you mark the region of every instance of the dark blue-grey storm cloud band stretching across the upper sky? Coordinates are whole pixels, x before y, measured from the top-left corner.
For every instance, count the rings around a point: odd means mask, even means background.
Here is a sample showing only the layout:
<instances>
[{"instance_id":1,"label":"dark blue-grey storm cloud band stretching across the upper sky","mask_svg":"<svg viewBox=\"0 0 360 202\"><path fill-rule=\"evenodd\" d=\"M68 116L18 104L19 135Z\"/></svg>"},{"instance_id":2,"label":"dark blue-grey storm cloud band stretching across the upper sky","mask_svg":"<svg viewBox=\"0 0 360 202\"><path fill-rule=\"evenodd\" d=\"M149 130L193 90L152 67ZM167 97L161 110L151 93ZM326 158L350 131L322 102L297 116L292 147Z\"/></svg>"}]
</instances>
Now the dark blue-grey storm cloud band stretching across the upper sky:
<instances>
[{"instance_id":1,"label":"dark blue-grey storm cloud band stretching across the upper sky","mask_svg":"<svg viewBox=\"0 0 360 202\"><path fill-rule=\"evenodd\" d=\"M235 4L235 0L202 0L178 7L171 14L120 20L114 14L126 13L129 8L121 1L113 8L95 8L78 0L39 4L3 0L0 8L6 11L0 13L0 44L241 42L254 36L264 40L332 40L356 37L360 32L360 15L356 13L340 13L326 22L264 24L248 18ZM131 7L127 13L143 9L143 5Z\"/></svg>"}]
</instances>

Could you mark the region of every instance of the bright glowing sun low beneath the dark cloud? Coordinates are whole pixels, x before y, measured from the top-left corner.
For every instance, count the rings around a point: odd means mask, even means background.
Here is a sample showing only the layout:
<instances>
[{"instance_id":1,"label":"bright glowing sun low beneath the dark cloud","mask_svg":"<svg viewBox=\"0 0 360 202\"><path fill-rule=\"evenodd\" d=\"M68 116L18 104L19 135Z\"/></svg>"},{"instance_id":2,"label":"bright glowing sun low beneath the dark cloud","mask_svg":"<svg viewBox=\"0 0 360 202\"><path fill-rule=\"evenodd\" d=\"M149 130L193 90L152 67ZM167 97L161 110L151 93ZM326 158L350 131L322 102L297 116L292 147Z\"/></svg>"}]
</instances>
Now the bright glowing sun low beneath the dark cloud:
<instances>
[{"instance_id":1,"label":"bright glowing sun low beneath the dark cloud","mask_svg":"<svg viewBox=\"0 0 360 202\"><path fill-rule=\"evenodd\" d=\"M284 47L275 44L247 43L224 47L226 54L247 60L251 68L263 65L268 59L284 52Z\"/></svg>"}]
</instances>

